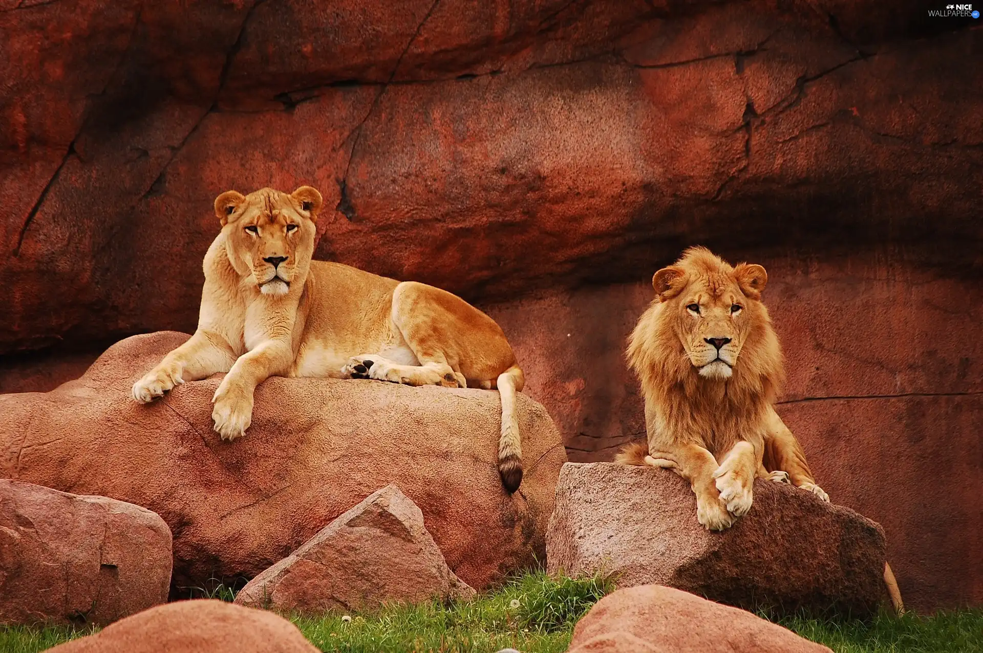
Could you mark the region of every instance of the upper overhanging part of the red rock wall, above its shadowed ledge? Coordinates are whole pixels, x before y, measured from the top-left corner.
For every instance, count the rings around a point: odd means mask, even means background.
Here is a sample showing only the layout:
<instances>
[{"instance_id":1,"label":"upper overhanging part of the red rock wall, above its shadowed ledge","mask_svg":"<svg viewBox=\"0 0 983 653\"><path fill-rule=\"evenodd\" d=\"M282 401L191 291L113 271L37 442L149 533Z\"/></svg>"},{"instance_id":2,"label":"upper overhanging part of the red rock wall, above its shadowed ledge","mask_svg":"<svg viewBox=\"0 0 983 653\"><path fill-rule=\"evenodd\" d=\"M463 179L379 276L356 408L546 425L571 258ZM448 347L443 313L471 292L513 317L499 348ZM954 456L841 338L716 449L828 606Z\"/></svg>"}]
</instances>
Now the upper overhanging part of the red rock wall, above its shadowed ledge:
<instances>
[{"instance_id":1,"label":"upper overhanging part of the red rock wall, above its shadowed ledge","mask_svg":"<svg viewBox=\"0 0 983 653\"><path fill-rule=\"evenodd\" d=\"M979 238L979 30L920 9L0 4L0 352L190 330L233 188L316 186L318 257L470 300Z\"/></svg>"}]
</instances>

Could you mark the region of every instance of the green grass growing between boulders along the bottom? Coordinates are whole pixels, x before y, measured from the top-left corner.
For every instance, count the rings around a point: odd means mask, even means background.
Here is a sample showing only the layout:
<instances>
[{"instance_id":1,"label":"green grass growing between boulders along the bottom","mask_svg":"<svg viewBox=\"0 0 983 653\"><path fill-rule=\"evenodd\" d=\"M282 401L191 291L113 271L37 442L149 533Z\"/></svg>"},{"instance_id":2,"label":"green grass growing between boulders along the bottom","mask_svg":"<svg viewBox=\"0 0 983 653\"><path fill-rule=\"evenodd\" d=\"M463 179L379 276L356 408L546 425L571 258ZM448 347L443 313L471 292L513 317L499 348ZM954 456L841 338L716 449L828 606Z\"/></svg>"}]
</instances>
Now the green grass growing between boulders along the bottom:
<instances>
[{"instance_id":1,"label":"green grass growing between boulders along the bottom","mask_svg":"<svg viewBox=\"0 0 983 653\"><path fill-rule=\"evenodd\" d=\"M469 603L389 606L292 621L322 651L478 653L511 647L523 653L559 653L566 650L573 626L610 588L601 578L552 578L534 572ZM218 585L198 596L230 600L233 594ZM884 613L868 622L792 617L779 623L837 653L983 653L983 610L900 618ZM0 652L34 653L90 632L0 628Z\"/></svg>"}]
</instances>

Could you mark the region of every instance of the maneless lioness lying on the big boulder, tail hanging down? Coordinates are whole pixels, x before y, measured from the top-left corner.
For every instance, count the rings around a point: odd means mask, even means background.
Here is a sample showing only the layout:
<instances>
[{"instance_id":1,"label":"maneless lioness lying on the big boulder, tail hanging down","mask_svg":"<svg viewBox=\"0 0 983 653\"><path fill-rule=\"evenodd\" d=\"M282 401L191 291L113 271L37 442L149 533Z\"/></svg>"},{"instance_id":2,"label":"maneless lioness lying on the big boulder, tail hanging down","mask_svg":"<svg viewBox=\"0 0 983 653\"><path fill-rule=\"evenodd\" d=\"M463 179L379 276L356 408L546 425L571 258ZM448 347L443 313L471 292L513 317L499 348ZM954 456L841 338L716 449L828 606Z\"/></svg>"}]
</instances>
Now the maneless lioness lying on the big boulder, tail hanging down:
<instances>
[{"instance_id":1,"label":"maneless lioness lying on the big boulder, tail hanging down","mask_svg":"<svg viewBox=\"0 0 983 653\"><path fill-rule=\"evenodd\" d=\"M218 195L222 231L204 255L198 330L134 385L134 399L145 404L228 372L211 417L222 439L234 440L250 426L254 390L272 375L497 388L498 471L514 492L522 481L515 393L525 379L501 328L432 286L313 261L321 201L308 186Z\"/></svg>"}]
</instances>

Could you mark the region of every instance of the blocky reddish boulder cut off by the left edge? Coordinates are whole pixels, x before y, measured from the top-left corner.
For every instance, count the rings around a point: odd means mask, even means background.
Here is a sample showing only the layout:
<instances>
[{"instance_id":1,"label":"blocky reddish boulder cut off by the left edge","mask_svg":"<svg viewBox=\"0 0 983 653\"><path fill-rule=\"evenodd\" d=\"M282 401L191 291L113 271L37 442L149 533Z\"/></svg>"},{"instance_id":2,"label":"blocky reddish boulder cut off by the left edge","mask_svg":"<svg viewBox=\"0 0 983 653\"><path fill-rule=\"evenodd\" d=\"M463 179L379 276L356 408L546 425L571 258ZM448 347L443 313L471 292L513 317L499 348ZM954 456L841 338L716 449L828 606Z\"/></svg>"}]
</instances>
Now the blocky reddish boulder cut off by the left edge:
<instances>
[{"instance_id":1,"label":"blocky reddish boulder cut off by the left edge","mask_svg":"<svg viewBox=\"0 0 983 653\"><path fill-rule=\"evenodd\" d=\"M103 626L165 603L170 581L158 515L0 478L0 624Z\"/></svg>"}]
</instances>

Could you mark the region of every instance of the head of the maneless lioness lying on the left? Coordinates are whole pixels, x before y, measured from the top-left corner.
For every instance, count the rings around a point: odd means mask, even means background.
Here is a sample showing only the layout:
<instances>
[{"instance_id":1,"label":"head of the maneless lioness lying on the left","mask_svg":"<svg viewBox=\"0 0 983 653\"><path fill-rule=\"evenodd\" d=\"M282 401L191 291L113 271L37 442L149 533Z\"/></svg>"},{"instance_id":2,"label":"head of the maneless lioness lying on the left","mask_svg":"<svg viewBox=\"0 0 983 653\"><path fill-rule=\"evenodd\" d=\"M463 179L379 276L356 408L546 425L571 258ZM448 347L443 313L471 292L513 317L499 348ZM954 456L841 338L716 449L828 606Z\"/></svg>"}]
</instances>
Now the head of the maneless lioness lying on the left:
<instances>
[{"instance_id":1,"label":"head of the maneless lioness lying on the left","mask_svg":"<svg viewBox=\"0 0 983 653\"><path fill-rule=\"evenodd\" d=\"M229 260L263 295L286 295L292 283L307 276L321 201L309 186L290 194L262 189L244 196L229 190L215 199L215 215L231 245Z\"/></svg>"}]
</instances>

